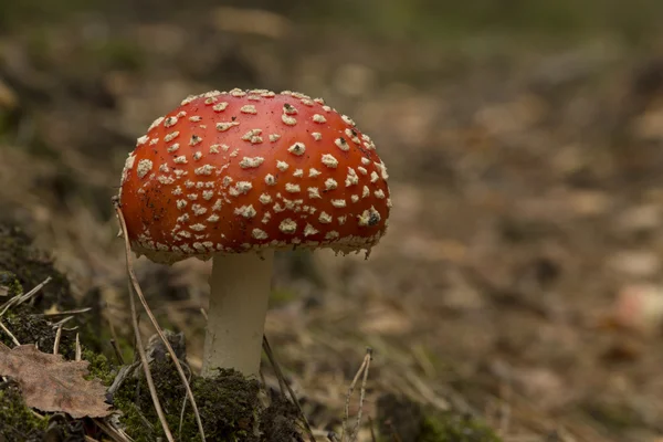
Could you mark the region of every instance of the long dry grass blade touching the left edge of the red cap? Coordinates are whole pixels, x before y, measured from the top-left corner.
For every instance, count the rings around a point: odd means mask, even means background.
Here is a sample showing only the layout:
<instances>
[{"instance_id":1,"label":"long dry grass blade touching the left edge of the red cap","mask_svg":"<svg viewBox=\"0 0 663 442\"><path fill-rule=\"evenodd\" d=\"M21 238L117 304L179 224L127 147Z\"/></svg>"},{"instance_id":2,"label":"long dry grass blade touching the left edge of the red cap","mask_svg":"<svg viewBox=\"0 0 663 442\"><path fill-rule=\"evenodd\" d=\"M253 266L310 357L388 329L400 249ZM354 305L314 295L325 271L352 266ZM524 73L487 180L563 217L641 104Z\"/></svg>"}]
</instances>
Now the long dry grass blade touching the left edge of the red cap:
<instances>
[{"instance_id":1,"label":"long dry grass blade touching the left edge of the red cap","mask_svg":"<svg viewBox=\"0 0 663 442\"><path fill-rule=\"evenodd\" d=\"M125 255L126 255L126 260L127 260L127 272L129 273L129 280L130 280L129 285L133 285L136 294L138 295L138 298L140 299L140 303L143 304L143 307L145 308L145 312L147 313L147 316L149 317L149 320L151 322L152 326L157 330L159 338L161 339L161 341L164 343L164 345L166 346L166 348L168 349L168 352L170 354L170 356L172 358L172 362L175 364L177 372L178 372L180 379L182 380L185 389L187 390L187 396L189 397L189 401L191 402L191 408L193 409L193 415L196 417L196 422L198 423L198 430L200 432L200 439L202 440L202 442L206 442L204 429L202 428L202 420L200 419L200 412L198 411L198 404L196 403L196 398L193 398L193 391L191 391L191 386L189 385L187 375L185 373L185 370L182 369L182 366L181 366L175 350L172 349L172 346L170 345L170 343L164 335L164 330L159 326L159 323L157 323L157 318L155 317L151 309L149 308L149 305L147 304L147 301L145 299L145 296L143 295L143 291L140 290L140 285L138 284L138 278L136 277L136 274L134 273L134 269L131 266L131 248L129 244L129 235L127 233L127 224L125 223L124 214L122 213L122 210L119 209L119 201L117 201L117 199L114 199L113 206L115 207L115 213L117 214L117 219L119 220L119 225L120 225L122 232L124 233L123 236L124 236L124 243L125 243ZM130 287L129 287L129 292L134 293L130 290ZM133 303L133 301L134 301L133 295L129 296L129 298L131 299L131 303ZM136 327L136 333L138 333L138 328L137 328L138 323L137 323L137 318L135 316L135 305L133 305L133 319L136 322L135 327ZM137 335L136 339L139 341L140 336ZM140 346L143 346L143 344L140 344ZM147 360L147 358L146 358L146 360ZM144 365L147 364L146 360L143 361ZM170 436L172 438L172 435L170 435Z\"/></svg>"}]
</instances>

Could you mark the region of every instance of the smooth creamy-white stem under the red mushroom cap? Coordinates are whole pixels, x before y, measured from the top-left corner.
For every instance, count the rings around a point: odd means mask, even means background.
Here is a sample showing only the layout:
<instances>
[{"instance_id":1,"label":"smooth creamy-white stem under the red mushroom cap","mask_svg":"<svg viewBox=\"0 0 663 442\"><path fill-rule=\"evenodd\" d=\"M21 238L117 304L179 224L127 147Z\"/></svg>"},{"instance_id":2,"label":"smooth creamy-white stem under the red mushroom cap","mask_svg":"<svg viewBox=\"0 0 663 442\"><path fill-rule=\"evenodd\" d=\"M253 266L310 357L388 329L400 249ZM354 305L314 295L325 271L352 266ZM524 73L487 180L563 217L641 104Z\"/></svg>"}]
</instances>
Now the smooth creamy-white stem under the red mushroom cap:
<instances>
[{"instance_id":1,"label":"smooth creamy-white stem under the red mushroom cap","mask_svg":"<svg viewBox=\"0 0 663 442\"><path fill-rule=\"evenodd\" d=\"M217 255L210 277L210 305L202 376L234 368L257 376L270 299L274 252Z\"/></svg>"}]
</instances>

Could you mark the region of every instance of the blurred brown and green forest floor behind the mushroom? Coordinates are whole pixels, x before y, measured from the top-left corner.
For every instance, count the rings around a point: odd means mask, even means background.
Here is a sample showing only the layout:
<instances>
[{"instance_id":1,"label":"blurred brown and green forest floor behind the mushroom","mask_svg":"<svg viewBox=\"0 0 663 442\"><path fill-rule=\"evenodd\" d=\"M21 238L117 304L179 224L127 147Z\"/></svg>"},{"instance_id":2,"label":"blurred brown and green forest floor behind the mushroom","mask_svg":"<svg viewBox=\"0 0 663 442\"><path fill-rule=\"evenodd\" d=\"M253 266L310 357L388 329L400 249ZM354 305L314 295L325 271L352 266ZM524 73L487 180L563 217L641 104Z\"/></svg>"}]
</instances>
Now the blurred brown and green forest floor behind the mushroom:
<instances>
[{"instance_id":1,"label":"blurred brown and green forest floor behind the mushroom","mask_svg":"<svg viewBox=\"0 0 663 442\"><path fill-rule=\"evenodd\" d=\"M110 197L135 139L189 94L322 96L376 141L394 209L368 261L280 259L266 332L315 425L371 346L373 418L398 393L505 441L661 441L662 20L660 0L0 1L0 220L128 335ZM199 367L209 264L136 266Z\"/></svg>"}]
</instances>

